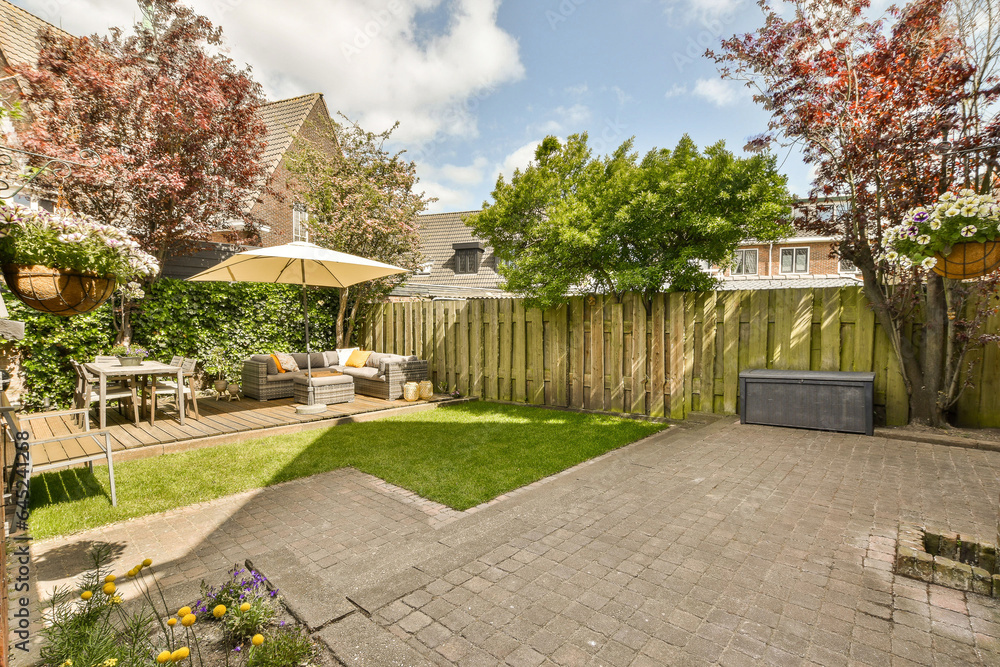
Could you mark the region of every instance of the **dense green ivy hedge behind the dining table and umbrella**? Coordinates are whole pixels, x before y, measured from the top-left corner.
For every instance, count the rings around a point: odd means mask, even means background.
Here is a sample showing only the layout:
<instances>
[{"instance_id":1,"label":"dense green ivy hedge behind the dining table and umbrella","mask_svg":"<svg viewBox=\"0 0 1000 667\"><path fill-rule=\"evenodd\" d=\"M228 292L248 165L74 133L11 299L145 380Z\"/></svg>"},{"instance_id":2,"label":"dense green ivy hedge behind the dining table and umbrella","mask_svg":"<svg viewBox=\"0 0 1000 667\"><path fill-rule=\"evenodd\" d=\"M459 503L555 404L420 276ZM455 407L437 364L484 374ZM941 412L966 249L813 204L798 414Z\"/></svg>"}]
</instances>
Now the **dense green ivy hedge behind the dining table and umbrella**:
<instances>
[{"instance_id":1,"label":"dense green ivy hedge behind the dining table and umbrella","mask_svg":"<svg viewBox=\"0 0 1000 667\"><path fill-rule=\"evenodd\" d=\"M24 339L7 345L20 356L28 410L69 407L76 382L71 359L85 361L108 350L115 331L111 307L86 315L56 317L23 305L10 293L4 302L13 320L25 323ZM335 290L309 290L309 339L313 350L335 347ZM302 288L259 283L154 283L132 314L132 342L154 359L194 357L205 370L213 349L222 348L226 379L239 382L250 354L305 349ZM214 374L211 374L214 378Z\"/></svg>"}]
</instances>

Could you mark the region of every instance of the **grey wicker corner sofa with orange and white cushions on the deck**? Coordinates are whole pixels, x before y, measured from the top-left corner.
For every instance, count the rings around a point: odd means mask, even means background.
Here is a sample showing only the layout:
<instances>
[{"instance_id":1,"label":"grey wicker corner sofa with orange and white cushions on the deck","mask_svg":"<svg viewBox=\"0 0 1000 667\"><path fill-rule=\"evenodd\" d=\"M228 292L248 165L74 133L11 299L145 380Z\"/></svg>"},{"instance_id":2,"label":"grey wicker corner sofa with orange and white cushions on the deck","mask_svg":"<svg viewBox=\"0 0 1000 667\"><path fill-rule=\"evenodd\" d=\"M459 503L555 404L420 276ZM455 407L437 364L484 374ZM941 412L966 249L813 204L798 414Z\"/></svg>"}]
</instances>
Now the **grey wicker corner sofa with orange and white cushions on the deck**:
<instances>
[{"instance_id":1,"label":"grey wicker corner sofa with orange and white cushions on the deck","mask_svg":"<svg viewBox=\"0 0 1000 667\"><path fill-rule=\"evenodd\" d=\"M259 401L291 398L295 378L305 376L306 355L292 353L301 370L279 373L269 354L255 354L243 362L243 395ZM393 401L403 395L403 385L427 379L427 362L416 357L372 352L362 368L345 366L335 351L313 352L312 369L335 370L354 379L354 393ZM272 372L274 371L274 372Z\"/></svg>"}]
</instances>

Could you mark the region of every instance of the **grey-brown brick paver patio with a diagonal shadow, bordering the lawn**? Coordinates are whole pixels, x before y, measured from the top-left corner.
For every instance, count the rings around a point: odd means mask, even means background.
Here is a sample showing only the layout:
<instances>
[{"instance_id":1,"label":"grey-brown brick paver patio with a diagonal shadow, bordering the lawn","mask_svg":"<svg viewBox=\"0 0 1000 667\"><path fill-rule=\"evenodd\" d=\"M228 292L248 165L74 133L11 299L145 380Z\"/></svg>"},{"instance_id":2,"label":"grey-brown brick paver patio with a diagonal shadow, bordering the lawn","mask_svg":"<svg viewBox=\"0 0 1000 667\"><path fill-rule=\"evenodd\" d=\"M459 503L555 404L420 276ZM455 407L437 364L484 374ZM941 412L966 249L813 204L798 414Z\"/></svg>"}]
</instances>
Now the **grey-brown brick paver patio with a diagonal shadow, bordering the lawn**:
<instances>
[{"instance_id":1,"label":"grey-brown brick paver patio with a diagonal shadow, bordering the lawn","mask_svg":"<svg viewBox=\"0 0 1000 667\"><path fill-rule=\"evenodd\" d=\"M998 453L727 420L473 514L343 470L35 557L45 581L96 540L177 579L249 557L345 664L996 665L1000 604L892 555L901 520L994 537L998 482Z\"/></svg>"}]
</instances>

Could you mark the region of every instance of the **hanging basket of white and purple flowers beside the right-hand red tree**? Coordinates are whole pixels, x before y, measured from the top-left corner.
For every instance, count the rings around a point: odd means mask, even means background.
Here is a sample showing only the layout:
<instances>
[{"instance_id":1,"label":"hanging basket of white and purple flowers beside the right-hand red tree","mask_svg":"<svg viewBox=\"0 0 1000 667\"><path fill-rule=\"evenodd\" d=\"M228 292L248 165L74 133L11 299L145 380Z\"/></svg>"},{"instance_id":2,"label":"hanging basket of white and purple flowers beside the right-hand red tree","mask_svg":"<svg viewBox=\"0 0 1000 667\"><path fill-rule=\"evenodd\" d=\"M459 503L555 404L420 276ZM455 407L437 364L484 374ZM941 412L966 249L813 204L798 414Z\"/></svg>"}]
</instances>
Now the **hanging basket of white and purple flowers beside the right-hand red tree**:
<instances>
[{"instance_id":1,"label":"hanging basket of white and purple flowers beside the right-hand red tree","mask_svg":"<svg viewBox=\"0 0 1000 667\"><path fill-rule=\"evenodd\" d=\"M886 231L885 259L945 278L984 276L1000 267L1000 200L974 190L945 192L937 203L906 214Z\"/></svg>"}]
</instances>

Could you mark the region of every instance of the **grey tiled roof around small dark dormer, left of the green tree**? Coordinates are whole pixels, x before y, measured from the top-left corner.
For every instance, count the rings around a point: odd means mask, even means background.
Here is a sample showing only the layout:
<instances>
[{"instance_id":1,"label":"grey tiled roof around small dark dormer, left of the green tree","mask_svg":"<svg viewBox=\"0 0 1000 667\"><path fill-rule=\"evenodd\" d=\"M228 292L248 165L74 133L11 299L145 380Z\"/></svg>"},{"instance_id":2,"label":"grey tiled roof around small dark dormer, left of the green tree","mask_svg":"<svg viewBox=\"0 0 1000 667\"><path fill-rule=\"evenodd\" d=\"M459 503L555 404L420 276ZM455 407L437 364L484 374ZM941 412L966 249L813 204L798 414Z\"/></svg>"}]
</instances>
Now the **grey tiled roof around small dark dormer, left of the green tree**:
<instances>
[{"instance_id":1,"label":"grey tiled roof around small dark dormer, left of the green tree","mask_svg":"<svg viewBox=\"0 0 1000 667\"><path fill-rule=\"evenodd\" d=\"M479 239L465 226L464 219L478 211L435 213L420 216L420 250L432 262L429 275L413 275L406 288L430 287L458 288L459 290L486 290L502 295L500 275L496 271L493 249L482 244L479 273L455 273L455 244L473 244ZM395 295L395 293L394 293ZM434 296L432 294L431 296Z\"/></svg>"}]
</instances>

